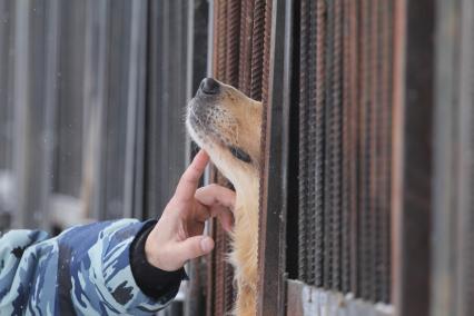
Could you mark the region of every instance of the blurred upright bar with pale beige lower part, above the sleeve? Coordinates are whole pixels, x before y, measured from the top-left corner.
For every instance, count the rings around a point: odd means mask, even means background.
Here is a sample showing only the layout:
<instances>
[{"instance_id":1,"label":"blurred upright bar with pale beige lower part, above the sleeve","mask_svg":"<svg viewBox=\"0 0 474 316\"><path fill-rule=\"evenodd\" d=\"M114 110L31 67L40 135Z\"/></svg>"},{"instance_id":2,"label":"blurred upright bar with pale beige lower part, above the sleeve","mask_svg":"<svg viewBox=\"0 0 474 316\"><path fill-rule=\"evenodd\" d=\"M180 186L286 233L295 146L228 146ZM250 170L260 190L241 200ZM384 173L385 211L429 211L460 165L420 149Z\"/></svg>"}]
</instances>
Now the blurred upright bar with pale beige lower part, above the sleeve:
<instances>
[{"instance_id":1,"label":"blurred upright bar with pale beige lower part, above the sleeve","mask_svg":"<svg viewBox=\"0 0 474 316\"><path fill-rule=\"evenodd\" d=\"M85 31L85 75L83 108L86 110L85 128L87 135L83 147L83 175L81 199L85 216L96 219L105 218L105 147L103 137L107 128L106 103L108 98L108 55L107 41L109 13L108 0L89 0L86 2Z\"/></svg>"}]
</instances>

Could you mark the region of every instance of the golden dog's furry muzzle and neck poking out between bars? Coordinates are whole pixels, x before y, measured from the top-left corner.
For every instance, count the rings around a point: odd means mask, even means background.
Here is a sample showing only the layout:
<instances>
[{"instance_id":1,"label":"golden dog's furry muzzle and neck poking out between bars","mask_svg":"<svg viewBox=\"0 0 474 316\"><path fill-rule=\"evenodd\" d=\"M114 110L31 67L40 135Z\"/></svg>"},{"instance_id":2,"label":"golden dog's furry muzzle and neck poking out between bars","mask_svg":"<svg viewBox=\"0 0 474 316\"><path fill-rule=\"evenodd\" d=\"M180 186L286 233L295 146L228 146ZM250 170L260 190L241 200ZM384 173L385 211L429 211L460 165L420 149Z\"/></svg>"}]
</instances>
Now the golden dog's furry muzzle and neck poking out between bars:
<instances>
[{"instance_id":1,"label":"golden dog's furry muzzle and neck poking out between bars","mask_svg":"<svg viewBox=\"0 0 474 316\"><path fill-rule=\"evenodd\" d=\"M191 138L236 189L229 255L237 284L234 313L256 315L261 102L218 85L215 95L198 90L188 105L186 125Z\"/></svg>"}]
</instances>

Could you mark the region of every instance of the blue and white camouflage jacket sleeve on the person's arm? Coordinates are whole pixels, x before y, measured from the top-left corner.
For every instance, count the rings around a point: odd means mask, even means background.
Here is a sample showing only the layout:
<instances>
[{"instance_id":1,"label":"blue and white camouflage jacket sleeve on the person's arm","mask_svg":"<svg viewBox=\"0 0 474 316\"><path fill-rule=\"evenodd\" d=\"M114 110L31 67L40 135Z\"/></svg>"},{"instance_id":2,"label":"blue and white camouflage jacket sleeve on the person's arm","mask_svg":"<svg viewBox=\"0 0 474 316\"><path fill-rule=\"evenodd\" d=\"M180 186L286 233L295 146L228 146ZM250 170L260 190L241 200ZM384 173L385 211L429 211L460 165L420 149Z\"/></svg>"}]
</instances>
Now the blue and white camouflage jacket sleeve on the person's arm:
<instances>
[{"instance_id":1,"label":"blue and white camouflage jacket sleeve on the person's arm","mask_svg":"<svg viewBox=\"0 0 474 316\"><path fill-rule=\"evenodd\" d=\"M176 289L146 296L130 268L135 219L72 227L55 238L12 230L0 238L1 315L150 315Z\"/></svg>"}]
</instances>

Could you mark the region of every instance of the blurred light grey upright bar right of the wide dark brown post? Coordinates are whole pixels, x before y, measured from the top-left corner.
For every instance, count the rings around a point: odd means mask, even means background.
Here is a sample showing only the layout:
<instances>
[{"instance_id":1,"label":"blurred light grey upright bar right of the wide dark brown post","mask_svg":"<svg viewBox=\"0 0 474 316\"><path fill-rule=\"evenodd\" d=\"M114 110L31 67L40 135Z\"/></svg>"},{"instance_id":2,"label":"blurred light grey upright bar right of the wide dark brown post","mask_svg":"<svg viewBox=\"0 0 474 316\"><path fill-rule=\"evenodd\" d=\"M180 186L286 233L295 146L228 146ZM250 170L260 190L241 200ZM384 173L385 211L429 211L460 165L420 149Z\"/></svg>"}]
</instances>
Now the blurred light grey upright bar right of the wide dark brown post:
<instances>
[{"instance_id":1,"label":"blurred light grey upright bar right of the wide dark brown post","mask_svg":"<svg viewBox=\"0 0 474 316\"><path fill-rule=\"evenodd\" d=\"M435 112L434 112L434 160L433 160L433 224L432 224L432 286L431 315L458 315L455 297L457 258L455 223L457 215L456 168L458 159L458 116L456 92L460 90L461 70L461 14L462 1L436 1L436 59L435 59Z\"/></svg>"}]
</instances>

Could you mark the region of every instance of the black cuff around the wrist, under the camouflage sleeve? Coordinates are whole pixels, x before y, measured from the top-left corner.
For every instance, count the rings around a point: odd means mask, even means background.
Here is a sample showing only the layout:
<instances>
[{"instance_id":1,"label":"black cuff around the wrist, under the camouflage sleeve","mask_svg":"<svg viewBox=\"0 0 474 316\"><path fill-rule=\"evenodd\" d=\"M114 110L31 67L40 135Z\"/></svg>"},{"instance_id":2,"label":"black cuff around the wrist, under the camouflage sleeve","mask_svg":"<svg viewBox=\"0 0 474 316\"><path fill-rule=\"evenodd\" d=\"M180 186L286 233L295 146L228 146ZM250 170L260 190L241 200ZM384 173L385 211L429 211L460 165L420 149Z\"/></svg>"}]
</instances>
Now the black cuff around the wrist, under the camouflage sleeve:
<instances>
[{"instance_id":1,"label":"black cuff around the wrist, under the camouflage sleeve","mask_svg":"<svg viewBox=\"0 0 474 316\"><path fill-rule=\"evenodd\" d=\"M145 243L156 220L147 221L130 246L130 266L135 282L147 296L159 299L170 292L178 292L182 279L188 279L184 268L176 271L161 270L150 265L145 255Z\"/></svg>"}]
</instances>

